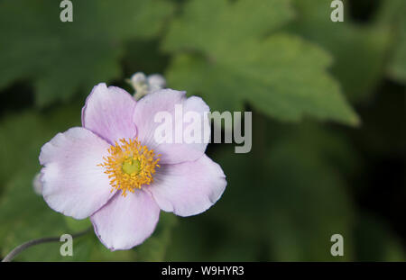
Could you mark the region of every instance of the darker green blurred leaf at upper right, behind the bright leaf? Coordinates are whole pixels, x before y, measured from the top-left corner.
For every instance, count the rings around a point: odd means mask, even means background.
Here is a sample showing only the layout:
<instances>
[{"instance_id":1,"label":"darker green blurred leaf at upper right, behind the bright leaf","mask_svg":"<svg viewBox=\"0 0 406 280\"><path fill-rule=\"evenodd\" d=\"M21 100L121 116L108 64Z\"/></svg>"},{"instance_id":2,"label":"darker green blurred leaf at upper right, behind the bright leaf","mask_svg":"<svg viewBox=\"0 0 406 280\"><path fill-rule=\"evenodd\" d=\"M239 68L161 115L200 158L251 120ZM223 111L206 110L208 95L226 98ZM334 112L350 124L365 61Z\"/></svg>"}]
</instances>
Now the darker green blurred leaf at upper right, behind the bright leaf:
<instances>
[{"instance_id":1,"label":"darker green blurred leaf at upper right, behind the bright leaf","mask_svg":"<svg viewBox=\"0 0 406 280\"><path fill-rule=\"evenodd\" d=\"M367 98L378 85L390 42L390 32L379 24L355 24L345 10L343 23L333 23L331 1L294 0L297 19L288 30L296 32L326 50L333 58L332 73L353 102ZM348 7L348 1L344 1Z\"/></svg>"}]
</instances>

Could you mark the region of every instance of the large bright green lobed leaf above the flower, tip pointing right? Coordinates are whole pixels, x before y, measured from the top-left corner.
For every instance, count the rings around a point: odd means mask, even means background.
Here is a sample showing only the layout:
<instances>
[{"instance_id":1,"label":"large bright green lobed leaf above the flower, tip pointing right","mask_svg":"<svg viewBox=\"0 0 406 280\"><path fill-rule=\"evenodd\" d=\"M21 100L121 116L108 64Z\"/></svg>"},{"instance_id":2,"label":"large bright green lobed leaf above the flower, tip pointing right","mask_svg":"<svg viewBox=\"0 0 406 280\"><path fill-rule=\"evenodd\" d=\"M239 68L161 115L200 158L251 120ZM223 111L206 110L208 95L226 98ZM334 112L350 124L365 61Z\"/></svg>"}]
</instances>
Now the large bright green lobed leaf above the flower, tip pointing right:
<instances>
[{"instance_id":1,"label":"large bright green lobed leaf above the flower, tip pointing right","mask_svg":"<svg viewBox=\"0 0 406 280\"><path fill-rule=\"evenodd\" d=\"M170 86L202 95L212 110L241 111L249 102L283 121L309 115L356 124L327 73L328 54L274 32L290 19L287 1L190 1L163 42L178 53L167 71Z\"/></svg>"}]
</instances>

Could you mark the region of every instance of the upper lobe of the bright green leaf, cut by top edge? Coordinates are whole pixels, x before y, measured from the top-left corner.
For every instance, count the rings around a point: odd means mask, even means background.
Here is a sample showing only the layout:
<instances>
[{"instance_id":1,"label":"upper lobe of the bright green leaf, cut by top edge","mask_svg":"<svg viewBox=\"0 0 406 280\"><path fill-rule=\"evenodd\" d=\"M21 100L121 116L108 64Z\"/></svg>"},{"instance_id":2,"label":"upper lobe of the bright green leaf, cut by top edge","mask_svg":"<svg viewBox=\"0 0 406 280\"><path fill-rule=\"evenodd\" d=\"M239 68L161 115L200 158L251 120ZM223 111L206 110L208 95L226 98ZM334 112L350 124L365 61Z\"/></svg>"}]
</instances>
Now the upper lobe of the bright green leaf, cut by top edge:
<instances>
[{"instance_id":1,"label":"upper lobe of the bright green leaf, cut by top edge","mask_svg":"<svg viewBox=\"0 0 406 280\"><path fill-rule=\"evenodd\" d=\"M256 40L277 30L291 16L287 0L191 0L182 15L172 21L164 49L222 55L218 52L227 52L242 39Z\"/></svg>"}]
</instances>

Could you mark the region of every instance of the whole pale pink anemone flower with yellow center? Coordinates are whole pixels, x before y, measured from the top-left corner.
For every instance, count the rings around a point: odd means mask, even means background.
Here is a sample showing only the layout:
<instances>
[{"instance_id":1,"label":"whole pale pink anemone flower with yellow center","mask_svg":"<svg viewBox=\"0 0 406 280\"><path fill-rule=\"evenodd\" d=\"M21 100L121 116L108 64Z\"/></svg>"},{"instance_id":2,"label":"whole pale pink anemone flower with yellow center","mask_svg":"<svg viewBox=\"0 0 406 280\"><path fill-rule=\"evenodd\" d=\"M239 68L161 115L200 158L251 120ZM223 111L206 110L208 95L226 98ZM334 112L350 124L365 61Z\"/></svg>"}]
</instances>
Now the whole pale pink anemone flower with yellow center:
<instances>
[{"instance_id":1,"label":"whole pale pink anemone flower with yellow center","mask_svg":"<svg viewBox=\"0 0 406 280\"><path fill-rule=\"evenodd\" d=\"M196 96L162 89L135 101L124 89L95 86L74 127L42 146L42 195L55 210L75 219L90 217L100 241L111 250L143 243L160 211L190 216L205 212L226 188L222 168L205 154L207 143L154 140L158 112L203 115ZM207 141L206 141L207 142Z\"/></svg>"}]
</instances>

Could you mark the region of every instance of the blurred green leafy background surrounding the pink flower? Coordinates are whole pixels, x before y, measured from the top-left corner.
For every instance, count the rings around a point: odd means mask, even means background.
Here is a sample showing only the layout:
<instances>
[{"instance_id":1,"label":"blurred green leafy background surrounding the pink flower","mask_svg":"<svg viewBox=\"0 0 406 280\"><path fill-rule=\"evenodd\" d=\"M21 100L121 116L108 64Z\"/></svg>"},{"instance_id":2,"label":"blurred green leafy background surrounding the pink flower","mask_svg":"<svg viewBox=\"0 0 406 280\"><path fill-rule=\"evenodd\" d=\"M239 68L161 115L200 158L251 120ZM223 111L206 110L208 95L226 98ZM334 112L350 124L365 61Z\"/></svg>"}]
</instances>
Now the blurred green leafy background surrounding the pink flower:
<instances>
[{"instance_id":1,"label":"blurred green leafy background surrounding the pink flower","mask_svg":"<svg viewBox=\"0 0 406 280\"><path fill-rule=\"evenodd\" d=\"M131 90L144 71L213 111L254 112L250 153L208 147L223 197L198 216L161 212L132 250L92 232L73 257L50 243L17 260L404 260L404 1L344 1L344 23L329 0L72 2L61 23L60 1L0 0L0 257L88 227L33 192L39 151L80 125L92 86ZM345 257L330 255L335 233Z\"/></svg>"}]
</instances>

